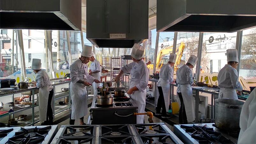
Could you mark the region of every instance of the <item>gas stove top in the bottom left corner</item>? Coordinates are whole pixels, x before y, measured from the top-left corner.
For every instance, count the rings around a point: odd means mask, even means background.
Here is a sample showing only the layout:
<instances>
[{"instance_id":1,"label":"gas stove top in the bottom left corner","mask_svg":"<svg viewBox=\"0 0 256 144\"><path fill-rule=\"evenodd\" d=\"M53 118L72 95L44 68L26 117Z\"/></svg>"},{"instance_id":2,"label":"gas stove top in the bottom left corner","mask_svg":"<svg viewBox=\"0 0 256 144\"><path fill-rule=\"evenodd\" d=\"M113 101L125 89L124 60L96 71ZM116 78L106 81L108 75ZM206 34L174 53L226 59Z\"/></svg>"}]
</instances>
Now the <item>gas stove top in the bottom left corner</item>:
<instances>
[{"instance_id":1,"label":"gas stove top in the bottom left corner","mask_svg":"<svg viewBox=\"0 0 256 144\"><path fill-rule=\"evenodd\" d=\"M0 143L50 143L58 126L26 126L0 128Z\"/></svg>"}]
</instances>

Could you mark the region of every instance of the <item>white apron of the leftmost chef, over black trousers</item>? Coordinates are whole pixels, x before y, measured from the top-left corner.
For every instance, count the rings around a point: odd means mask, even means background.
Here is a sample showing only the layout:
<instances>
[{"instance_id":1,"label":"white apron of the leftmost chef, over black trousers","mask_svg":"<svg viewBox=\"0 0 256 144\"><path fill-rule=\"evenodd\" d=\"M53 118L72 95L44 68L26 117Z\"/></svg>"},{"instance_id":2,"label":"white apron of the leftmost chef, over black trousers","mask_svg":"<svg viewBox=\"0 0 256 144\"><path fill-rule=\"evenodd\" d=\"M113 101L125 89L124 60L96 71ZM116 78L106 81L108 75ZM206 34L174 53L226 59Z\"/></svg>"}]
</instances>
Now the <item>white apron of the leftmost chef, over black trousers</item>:
<instances>
[{"instance_id":1,"label":"white apron of the leftmost chef, over black trousers","mask_svg":"<svg viewBox=\"0 0 256 144\"><path fill-rule=\"evenodd\" d=\"M39 89L39 120L46 121L47 104L49 93L52 90L52 86L42 87ZM52 109L53 106L51 105Z\"/></svg>"}]
</instances>

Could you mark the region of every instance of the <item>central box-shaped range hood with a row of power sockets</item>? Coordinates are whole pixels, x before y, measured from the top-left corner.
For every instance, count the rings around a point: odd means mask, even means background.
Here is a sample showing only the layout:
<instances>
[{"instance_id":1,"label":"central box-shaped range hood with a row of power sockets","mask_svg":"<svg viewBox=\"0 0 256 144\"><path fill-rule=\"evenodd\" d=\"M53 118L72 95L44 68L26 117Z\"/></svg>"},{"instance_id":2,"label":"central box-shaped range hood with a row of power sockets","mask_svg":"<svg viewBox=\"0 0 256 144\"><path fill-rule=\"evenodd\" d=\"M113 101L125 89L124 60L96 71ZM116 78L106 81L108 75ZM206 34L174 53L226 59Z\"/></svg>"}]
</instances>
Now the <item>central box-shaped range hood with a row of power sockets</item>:
<instances>
[{"instance_id":1,"label":"central box-shaped range hood with a row of power sockets","mask_svg":"<svg viewBox=\"0 0 256 144\"><path fill-rule=\"evenodd\" d=\"M86 38L96 47L130 48L148 39L148 0L87 0Z\"/></svg>"}]
</instances>

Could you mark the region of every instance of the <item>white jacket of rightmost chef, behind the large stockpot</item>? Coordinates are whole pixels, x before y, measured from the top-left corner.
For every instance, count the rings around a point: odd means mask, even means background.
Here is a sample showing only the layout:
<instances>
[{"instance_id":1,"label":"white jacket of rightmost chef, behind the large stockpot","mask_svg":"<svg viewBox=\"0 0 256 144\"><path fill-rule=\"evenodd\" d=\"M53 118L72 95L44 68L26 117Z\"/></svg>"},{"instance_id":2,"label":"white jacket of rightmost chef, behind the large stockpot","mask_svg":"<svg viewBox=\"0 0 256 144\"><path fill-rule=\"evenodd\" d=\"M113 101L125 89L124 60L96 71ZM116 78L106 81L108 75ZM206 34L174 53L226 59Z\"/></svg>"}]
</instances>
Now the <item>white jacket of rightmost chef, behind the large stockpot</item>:
<instances>
[{"instance_id":1,"label":"white jacket of rightmost chef, behind the large stockpot","mask_svg":"<svg viewBox=\"0 0 256 144\"><path fill-rule=\"evenodd\" d=\"M235 68L226 64L218 74L219 88L232 88L242 91L243 87L238 81L238 72Z\"/></svg>"}]
</instances>

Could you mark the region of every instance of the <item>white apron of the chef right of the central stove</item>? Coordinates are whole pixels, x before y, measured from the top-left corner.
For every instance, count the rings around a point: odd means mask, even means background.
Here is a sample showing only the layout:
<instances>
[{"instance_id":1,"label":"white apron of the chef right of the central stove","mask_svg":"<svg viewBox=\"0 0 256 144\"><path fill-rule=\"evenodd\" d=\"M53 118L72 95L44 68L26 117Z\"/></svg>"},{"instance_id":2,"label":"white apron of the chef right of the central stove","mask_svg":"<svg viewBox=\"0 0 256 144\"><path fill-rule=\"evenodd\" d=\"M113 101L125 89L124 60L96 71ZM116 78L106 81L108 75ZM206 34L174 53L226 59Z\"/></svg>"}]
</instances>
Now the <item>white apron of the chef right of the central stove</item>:
<instances>
[{"instance_id":1,"label":"white apron of the chef right of the central stove","mask_svg":"<svg viewBox=\"0 0 256 144\"><path fill-rule=\"evenodd\" d=\"M130 88L135 87L138 83L140 83L140 79L133 79L134 81L130 82ZM133 94L130 95L131 99L134 101L134 106L138 107L138 113L145 112L146 106L146 89L144 92L139 90L134 91ZM144 115L137 115L137 124L143 124L144 122Z\"/></svg>"}]
</instances>

